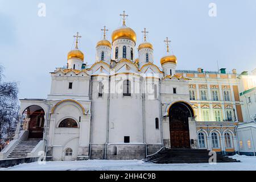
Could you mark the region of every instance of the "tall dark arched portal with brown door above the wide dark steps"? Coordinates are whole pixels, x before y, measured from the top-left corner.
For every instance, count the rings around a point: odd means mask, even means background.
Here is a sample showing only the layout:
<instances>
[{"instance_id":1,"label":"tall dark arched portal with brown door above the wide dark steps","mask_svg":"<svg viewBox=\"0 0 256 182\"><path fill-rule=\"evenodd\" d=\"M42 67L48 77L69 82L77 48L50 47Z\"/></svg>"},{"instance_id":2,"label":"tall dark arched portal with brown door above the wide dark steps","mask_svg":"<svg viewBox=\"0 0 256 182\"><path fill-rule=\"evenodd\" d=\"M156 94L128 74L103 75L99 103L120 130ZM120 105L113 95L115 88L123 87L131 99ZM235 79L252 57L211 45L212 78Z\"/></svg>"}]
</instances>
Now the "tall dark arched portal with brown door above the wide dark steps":
<instances>
[{"instance_id":1,"label":"tall dark arched portal with brown door above the wide dark steps","mask_svg":"<svg viewBox=\"0 0 256 182\"><path fill-rule=\"evenodd\" d=\"M188 118L193 109L187 102L175 102L168 111L170 122L171 148L191 148Z\"/></svg>"}]
</instances>

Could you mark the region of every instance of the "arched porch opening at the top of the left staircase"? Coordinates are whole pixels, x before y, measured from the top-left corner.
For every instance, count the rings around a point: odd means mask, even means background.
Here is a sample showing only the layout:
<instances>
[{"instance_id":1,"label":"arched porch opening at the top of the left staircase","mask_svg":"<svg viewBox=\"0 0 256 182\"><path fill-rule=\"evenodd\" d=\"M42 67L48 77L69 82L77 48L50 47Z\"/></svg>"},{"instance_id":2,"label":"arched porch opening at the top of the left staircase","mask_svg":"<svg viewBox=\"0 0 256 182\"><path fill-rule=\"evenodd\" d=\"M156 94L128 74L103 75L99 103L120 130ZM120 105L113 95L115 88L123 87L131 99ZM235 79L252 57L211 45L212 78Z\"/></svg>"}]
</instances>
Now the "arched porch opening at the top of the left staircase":
<instances>
[{"instance_id":1,"label":"arched porch opening at the top of the left staircase","mask_svg":"<svg viewBox=\"0 0 256 182\"><path fill-rule=\"evenodd\" d=\"M28 130L28 138L43 138L44 110L38 105L27 107L23 112L23 130Z\"/></svg>"}]
</instances>

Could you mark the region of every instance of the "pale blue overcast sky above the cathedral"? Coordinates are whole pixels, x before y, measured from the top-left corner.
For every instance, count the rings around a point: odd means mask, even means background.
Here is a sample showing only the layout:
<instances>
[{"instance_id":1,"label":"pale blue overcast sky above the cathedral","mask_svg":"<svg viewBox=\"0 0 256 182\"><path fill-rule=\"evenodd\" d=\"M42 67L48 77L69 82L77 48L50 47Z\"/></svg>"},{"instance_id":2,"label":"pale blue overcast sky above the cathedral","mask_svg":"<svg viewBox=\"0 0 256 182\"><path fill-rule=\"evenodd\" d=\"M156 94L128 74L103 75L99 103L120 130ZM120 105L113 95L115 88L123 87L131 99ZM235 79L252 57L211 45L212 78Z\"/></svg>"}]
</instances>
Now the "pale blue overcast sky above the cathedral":
<instances>
[{"instance_id":1,"label":"pale blue overcast sky above the cathedral","mask_svg":"<svg viewBox=\"0 0 256 182\"><path fill-rule=\"evenodd\" d=\"M45 17L38 16L39 3L46 4ZM216 3L216 17L209 16L209 3ZM137 33L137 46L143 28L149 31L156 65L160 66L168 36L177 69L217 71L217 60L219 68L228 72L256 68L255 0L0 0L0 64L5 67L5 80L19 83L19 98L46 98L49 72L66 65L73 35L77 31L82 35L79 48L85 62L92 64L96 43L102 39L100 29L106 25L110 40L122 24L123 10L129 14L127 26Z\"/></svg>"}]
</instances>

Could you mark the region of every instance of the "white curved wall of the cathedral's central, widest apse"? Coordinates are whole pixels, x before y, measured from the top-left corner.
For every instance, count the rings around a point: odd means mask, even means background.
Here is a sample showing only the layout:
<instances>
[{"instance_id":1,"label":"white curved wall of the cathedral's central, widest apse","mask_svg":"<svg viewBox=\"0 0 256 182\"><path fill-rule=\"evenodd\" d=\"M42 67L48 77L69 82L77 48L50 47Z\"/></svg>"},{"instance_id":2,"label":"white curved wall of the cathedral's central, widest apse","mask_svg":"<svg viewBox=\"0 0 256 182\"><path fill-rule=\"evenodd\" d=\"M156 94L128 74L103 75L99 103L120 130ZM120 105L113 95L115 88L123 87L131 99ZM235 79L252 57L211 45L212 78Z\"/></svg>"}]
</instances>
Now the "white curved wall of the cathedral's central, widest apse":
<instances>
[{"instance_id":1,"label":"white curved wall of the cathedral's central, widest apse","mask_svg":"<svg viewBox=\"0 0 256 182\"><path fill-rule=\"evenodd\" d=\"M142 97L136 91L141 88L139 76L129 75L131 96L122 93L126 79L126 75L118 75L110 83L120 89L119 93L110 94L109 122L113 122L114 127L109 130L109 143L123 143L125 136L130 137L130 143L143 143Z\"/></svg>"}]
</instances>

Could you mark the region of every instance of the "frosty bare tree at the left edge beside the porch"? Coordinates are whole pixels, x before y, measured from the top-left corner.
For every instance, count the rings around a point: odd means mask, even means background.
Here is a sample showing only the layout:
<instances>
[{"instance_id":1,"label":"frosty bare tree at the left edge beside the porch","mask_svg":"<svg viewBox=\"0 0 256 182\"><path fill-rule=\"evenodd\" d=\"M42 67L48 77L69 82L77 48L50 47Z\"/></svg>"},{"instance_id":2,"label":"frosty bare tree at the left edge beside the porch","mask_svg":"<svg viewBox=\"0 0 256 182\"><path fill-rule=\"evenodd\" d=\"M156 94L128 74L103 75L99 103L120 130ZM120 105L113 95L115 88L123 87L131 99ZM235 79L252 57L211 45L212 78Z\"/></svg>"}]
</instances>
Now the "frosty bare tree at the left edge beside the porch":
<instances>
[{"instance_id":1,"label":"frosty bare tree at the left edge beside the porch","mask_svg":"<svg viewBox=\"0 0 256 182\"><path fill-rule=\"evenodd\" d=\"M16 82L3 82L0 65L0 150L13 138L19 119L18 86Z\"/></svg>"}]
</instances>

